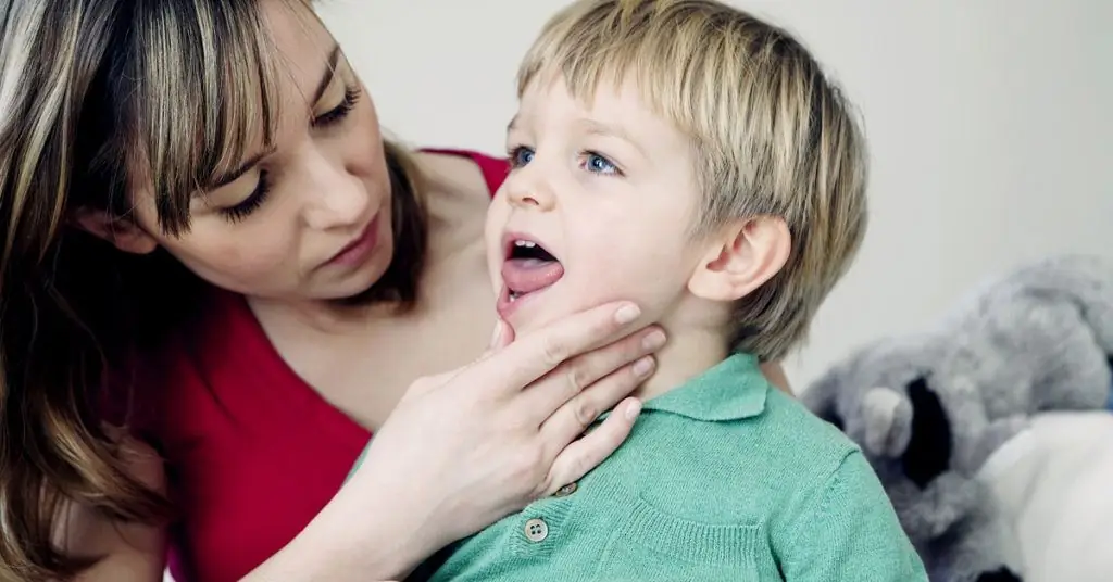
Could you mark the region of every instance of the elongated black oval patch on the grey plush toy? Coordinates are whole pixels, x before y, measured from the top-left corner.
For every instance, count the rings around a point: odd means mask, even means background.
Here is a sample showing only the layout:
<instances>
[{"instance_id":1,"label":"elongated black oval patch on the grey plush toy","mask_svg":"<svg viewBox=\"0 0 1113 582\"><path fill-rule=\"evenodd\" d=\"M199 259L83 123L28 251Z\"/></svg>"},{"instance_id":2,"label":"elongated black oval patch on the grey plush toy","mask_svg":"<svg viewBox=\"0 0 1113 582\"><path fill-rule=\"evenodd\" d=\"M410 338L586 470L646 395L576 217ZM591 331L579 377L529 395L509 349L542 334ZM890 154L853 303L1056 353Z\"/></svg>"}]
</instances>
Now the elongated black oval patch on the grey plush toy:
<instances>
[{"instance_id":1,"label":"elongated black oval patch on the grey plush toy","mask_svg":"<svg viewBox=\"0 0 1113 582\"><path fill-rule=\"evenodd\" d=\"M939 396L923 376L907 386L912 404L912 435L900 456L904 472L920 489L951 467L954 435Z\"/></svg>"}]
</instances>

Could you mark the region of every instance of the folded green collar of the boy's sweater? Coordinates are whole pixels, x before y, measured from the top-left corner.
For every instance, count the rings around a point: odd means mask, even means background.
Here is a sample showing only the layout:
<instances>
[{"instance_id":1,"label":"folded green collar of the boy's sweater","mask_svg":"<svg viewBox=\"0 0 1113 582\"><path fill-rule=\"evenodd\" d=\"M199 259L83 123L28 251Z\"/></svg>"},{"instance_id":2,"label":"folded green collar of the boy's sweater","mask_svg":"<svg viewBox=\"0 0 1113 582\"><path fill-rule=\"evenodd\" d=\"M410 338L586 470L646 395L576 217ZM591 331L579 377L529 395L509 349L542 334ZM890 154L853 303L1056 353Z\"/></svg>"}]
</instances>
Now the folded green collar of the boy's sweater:
<instances>
[{"instance_id":1,"label":"folded green collar of the boy's sweater","mask_svg":"<svg viewBox=\"0 0 1113 582\"><path fill-rule=\"evenodd\" d=\"M740 421L765 411L768 389L758 358L733 354L683 385L646 401L642 410L702 422Z\"/></svg>"}]
</instances>

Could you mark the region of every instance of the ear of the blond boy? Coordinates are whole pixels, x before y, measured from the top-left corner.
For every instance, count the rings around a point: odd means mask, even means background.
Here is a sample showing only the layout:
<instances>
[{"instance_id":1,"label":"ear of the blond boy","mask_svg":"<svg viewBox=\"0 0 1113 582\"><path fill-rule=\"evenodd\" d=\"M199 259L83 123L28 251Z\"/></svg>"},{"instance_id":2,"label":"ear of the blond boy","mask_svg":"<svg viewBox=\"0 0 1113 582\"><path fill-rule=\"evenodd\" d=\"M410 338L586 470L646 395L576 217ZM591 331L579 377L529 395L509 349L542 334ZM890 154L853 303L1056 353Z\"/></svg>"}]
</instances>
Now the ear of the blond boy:
<instances>
[{"instance_id":1,"label":"ear of the blond boy","mask_svg":"<svg viewBox=\"0 0 1113 582\"><path fill-rule=\"evenodd\" d=\"M792 237L782 218L757 216L732 223L710 240L688 279L688 290L703 299L740 299L780 272L791 250Z\"/></svg>"}]
</instances>

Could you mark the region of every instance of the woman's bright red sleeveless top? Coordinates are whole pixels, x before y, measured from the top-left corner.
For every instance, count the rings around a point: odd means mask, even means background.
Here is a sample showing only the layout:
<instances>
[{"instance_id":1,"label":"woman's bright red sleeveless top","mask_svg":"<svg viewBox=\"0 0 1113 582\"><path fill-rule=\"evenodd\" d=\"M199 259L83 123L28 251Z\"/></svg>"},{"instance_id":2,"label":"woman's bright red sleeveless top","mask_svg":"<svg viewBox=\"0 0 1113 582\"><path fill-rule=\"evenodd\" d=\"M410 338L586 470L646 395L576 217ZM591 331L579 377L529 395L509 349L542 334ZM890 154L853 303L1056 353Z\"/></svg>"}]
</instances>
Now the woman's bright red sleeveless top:
<instances>
[{"instance_id":1,"label":"woman's bright red sleeveless top","mask_svg":"<svg viewBox=\"0 0 1113 582\"><path fill-rule=\"evenodd\" d=\"M493 193L509 165L472 151ZM144 363L136 433L166 457L181 520L178 582L233 582L278 552L333 497L371 433L282 359L245 298L210 288L194 322ZM374 519L362 516L361 519Z\"/></svg>"}]
</instances>

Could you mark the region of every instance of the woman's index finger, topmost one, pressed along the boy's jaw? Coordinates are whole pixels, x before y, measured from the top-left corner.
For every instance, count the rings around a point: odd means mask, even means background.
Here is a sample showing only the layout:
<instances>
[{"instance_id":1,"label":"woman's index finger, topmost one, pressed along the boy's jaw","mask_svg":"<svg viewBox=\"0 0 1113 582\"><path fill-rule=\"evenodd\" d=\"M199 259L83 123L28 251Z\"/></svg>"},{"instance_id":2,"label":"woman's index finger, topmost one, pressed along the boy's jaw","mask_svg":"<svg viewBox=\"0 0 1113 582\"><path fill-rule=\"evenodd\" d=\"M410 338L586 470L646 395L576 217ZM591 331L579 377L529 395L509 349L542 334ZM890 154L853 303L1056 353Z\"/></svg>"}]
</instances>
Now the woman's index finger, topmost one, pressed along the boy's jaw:
<instances>
[{"instance_id":1,"label":"woman's index finger, topmost one, pressed along the boy's jaw","mask_svg":"<svg viewBox=\"0 0 1113 582\"><path fill-rule=\"evenodd\" d=\"M516 393L523 386L585 352L602 347L648 325L641 309L618 302L578 313L514 343L479 362L472 371L475 385L502 386Z\"/></svg>"}]
</instances>

